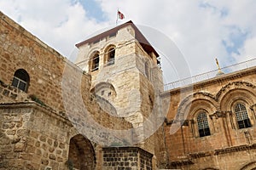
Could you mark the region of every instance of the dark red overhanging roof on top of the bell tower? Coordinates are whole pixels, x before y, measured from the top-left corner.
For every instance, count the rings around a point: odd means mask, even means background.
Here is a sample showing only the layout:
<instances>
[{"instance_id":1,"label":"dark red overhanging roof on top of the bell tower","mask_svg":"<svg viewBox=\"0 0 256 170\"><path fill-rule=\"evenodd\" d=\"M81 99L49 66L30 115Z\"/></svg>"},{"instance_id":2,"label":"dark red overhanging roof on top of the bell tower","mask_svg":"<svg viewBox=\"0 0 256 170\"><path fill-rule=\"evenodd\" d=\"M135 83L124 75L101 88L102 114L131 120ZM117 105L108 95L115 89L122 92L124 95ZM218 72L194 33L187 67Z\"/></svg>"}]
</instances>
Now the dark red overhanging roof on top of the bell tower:
<instances>
[{"instance_id":1,"label":"dark red overhanging roof on top of the bell tower","mask_svg":"<svg viewBox=\"0 0 256 170\"><path fill-rule=\"evenodd\" d=\"M148 42L148 40L146 39L146 37L143 36L143 33L141 31L138 30L137 26L135 26L133 24L133 22L130 20L128 22L126 22L123 25L120 26L116 26L108 31L104 31L99 35L96 35L95 37L90 37L87 40L84 40L84 42L79 42L76 44L76 47L79 48L80 46L86 44L86 43L91 43L91 42L97 42L100 41L103 37L108 37L109 35L113 35L113 33L116 33L117 31L119 31L121 28L124 28L126 26L132 26L132 28L135 30L135 38L137 39L137 41L141 44L141 46L143 47L143 49L150 54L151 52L153 52L155 54L156 57L159 56L159 54L154 50L154 48L151 46L151 44Z\"/></svg>"}]
</instances>

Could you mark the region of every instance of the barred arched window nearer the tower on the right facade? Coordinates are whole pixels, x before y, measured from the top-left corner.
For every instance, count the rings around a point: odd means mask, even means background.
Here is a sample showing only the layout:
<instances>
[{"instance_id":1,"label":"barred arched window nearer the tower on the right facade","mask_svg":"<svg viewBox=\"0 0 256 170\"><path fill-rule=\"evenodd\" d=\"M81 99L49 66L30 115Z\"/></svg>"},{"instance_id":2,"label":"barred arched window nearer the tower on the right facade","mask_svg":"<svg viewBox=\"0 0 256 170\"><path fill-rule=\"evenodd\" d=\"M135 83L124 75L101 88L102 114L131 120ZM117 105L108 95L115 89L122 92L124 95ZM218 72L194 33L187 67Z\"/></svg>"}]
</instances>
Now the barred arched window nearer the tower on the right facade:
<instances>
[{"instance_id":1,"label":"barred arched window nearer the tower on the right facade","mask_svg":"<svg viewBox=\"0 0 256 170\"><path fill-rule=\"evenodd\" d=\"M205 112L201 112L197 116L197 125L200 137L211 135L210 127L207 120L207 114Z\"/></svg>"}]
</instances>

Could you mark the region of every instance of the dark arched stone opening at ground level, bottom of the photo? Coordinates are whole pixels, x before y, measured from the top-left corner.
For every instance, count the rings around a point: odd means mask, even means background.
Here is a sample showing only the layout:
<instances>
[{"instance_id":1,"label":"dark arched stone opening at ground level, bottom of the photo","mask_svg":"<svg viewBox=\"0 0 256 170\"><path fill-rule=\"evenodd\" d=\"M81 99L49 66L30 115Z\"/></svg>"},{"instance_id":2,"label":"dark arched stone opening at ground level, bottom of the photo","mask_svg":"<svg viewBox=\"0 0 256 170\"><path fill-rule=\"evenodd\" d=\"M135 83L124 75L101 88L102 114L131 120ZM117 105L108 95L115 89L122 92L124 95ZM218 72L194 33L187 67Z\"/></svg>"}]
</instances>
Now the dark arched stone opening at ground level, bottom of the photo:
<instances>
[{"instance_id":1,"label":"dark arched stone opening at ground level, bottom of the photo","mask_svg":"<svg viewBox=\"0 0 256 170\"><path fill-rule=\"evenodd\" d=\"M96 168L95 150L90 140L82 134L70 139L67 167L79 170Z\"/></svg>"}]
</instances>

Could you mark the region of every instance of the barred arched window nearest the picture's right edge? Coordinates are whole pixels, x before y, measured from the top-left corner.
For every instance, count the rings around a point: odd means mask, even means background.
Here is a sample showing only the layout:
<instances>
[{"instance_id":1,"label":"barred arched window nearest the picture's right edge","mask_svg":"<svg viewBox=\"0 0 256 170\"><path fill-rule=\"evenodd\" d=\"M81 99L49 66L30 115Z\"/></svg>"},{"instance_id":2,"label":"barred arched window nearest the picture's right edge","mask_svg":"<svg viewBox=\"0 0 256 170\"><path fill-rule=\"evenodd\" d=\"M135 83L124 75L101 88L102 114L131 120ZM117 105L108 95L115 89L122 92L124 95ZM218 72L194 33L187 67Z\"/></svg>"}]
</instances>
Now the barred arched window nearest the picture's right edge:
<instances>
[{"instance_id":1,"label":"barred arched window nearest the picture's right edge","mask_svg":"<svg viewBox=\"0 0 256 170\"><path fill-rule=\"evenodd\" d=\"M250 119L247 115L247 108L245 105L238 103L235 105L236 122L238 128L252 127Z\"/></svg>"}]
</instances>

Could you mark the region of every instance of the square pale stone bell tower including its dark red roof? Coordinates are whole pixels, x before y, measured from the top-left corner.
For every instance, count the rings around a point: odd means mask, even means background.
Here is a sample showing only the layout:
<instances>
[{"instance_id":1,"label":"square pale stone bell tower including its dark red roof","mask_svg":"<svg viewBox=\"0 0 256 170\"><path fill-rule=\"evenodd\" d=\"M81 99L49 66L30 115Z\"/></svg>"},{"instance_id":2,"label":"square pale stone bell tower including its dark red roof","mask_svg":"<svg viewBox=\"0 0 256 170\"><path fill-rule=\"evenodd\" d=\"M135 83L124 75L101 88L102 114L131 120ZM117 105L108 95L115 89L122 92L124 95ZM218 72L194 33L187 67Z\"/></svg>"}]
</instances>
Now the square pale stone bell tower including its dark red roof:
<instances>
[{"instance_id":1,"label":"square pale stone bell tower including its dark red roof","mask_svg":"<svg viewBox=\"0 0 256 170\"><path fill-rule=\"evenodd\" d=\"M76 64L90 73L91 91L99 101L104 101L99 102L102 108L131 122L137 129L134 140L142 144L145 133L149 133L143 122L159 111L156 94L163 91L159 54L131 21L90 37L76 47ZM147 123L154 127L152 117Z\"/></svg>"}]
</instances>

